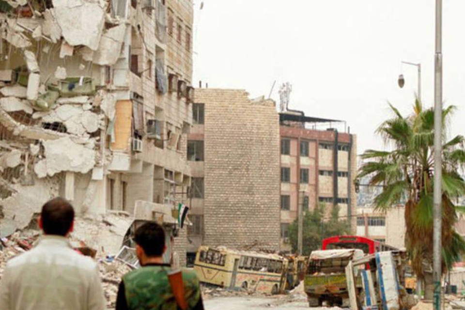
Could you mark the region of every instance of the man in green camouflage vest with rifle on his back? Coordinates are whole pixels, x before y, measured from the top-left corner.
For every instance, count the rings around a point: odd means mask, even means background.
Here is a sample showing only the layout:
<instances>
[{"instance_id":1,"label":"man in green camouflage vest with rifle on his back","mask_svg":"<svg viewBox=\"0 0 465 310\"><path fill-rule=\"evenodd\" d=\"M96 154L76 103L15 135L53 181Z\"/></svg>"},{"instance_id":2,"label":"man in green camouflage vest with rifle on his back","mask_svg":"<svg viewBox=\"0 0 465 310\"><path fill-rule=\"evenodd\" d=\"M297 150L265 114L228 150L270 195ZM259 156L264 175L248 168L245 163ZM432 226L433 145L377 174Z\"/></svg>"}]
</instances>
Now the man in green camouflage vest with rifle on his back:
<instances>
[{"instance_id":1,"label":"man in green camouflage vest with rifle on his back","mask_svg":"<svg viewBox=\"0 0 465 310\"><path fill-rule=\"evenodd\" d=\"M137 229L134 240L141 267L124 275L116 310L203 310L195 272L182 271L183 285L169 280L172 270L162 257L166 250L163 228L154 222L145 223ZM182 296L178 294L180 289L184 291Z\"/></svg>"}]
</instances>

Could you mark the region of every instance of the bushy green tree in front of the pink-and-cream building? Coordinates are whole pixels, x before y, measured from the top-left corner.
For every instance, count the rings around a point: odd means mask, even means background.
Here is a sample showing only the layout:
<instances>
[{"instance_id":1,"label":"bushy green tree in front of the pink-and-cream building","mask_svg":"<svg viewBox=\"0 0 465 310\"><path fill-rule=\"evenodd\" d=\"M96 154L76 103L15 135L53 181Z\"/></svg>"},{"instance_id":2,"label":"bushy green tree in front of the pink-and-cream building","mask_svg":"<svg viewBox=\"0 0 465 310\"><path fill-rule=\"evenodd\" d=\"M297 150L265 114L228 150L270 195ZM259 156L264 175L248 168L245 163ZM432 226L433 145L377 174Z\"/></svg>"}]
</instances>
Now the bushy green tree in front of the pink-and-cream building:
<instances>
[{"instance_id":1,"label":"bushy green tree in front of the pink-and-cream building","mask_svg":"<svg viewBox=\"0 0 465 310\"><path fill-rule=\"evenodd\" d=\"M303 255L310 255L311 251L320 249L324 238L349 232L349 221L339 218L339 206L331 206L330 216L325 217L328 207L327 204L319 204L303 216ZM297 219L289 226L289 241L294 252L297 252L297 226Z\"/></svg>"}]
</instances>

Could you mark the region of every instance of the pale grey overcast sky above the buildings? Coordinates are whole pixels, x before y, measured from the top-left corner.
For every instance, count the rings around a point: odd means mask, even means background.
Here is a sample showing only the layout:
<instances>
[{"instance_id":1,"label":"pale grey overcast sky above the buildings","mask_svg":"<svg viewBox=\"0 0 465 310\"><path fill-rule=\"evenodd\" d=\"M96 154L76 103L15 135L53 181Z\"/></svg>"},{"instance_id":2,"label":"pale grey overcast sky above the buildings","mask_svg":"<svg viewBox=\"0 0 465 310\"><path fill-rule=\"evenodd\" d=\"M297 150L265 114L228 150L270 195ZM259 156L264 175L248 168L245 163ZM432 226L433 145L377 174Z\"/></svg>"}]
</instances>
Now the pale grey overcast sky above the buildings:
<instances>
[{"instance_id":1,"label":"pale grey overcast sky above the buildings","mask_svg":"<svg viewBox=\"0 0 465 310\"><path fill-rule=\"evenodd\" d=\"M422 98L433 103L434 0L200 0L194 3L194 85L246 89L279 104L293 84L291 109L347 121L358 153L382 148L374 130L387 101L410 112L421 62ZM444 101L456 105L450 134L465 118L465 1L445 0ZM405 86L397 86L400 73Z\"/></svg>"}]
</instances>

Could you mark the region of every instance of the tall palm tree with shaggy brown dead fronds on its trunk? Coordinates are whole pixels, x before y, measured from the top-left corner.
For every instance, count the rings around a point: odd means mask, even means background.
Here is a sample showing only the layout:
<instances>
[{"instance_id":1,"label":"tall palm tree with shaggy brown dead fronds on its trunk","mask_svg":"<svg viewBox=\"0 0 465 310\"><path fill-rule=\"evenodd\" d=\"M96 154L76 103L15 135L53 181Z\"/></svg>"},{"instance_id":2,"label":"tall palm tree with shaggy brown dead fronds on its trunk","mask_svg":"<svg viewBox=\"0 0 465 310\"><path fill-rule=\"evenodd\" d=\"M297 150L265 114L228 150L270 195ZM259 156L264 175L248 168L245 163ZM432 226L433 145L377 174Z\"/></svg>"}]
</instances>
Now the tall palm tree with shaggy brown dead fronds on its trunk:
<instances>
[{"instance_id":1,"label":"tall palm tree with shaggy brown dead fronds on its trunk","mask_svg":"<svg viewBox=\"0 0 465 310\"><path fill-rule=\"evenodd\" d=\"M405 246L418 279L424 279L425 298L433 297L433 180L434 180L434 111L423 109L416 100L414 111L404 117L389 104L393 117L376 132L391 151L366 150L358 177L368 175L370 185L382 185L374 203L378 210L405 203ZM446 126L454 106L442 111ZM446 132L446 130L443 130ZM446 141L446 135L442 138ZM454 200L465 194L465 181L458 171L464 168L464 137L456 136L442 146L442 263L443 273L465 251L464 239L455 231Z\"/></svg>"}]
</instances>

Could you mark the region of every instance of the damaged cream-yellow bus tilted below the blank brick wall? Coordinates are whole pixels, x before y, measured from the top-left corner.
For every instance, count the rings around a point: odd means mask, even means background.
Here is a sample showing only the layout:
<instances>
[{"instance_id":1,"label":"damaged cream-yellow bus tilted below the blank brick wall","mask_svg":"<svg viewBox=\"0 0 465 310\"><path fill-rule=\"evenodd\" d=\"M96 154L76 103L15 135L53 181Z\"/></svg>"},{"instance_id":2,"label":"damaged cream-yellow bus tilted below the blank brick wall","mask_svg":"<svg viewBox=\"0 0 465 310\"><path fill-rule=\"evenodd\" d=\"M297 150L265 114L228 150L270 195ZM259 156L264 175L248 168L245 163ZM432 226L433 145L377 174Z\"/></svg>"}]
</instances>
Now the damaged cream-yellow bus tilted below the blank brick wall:
<instances>
[{"instance_id":1,"label":"damaged cream-yellow bus tilted below the blank brick wall","mask_svg":"<svg viewBox=\"0 0 465 310\"><path fill-rule=\"evenodd\" d=\"M279 294L286 287L288 261L277 254L201 246L194 270L203 283Z\"/></svg>"}]
</instances>

